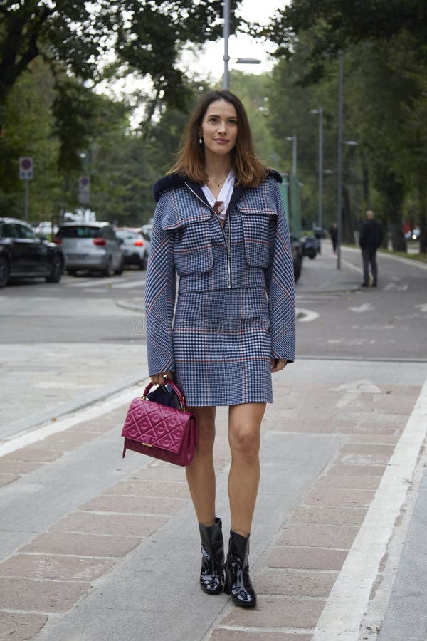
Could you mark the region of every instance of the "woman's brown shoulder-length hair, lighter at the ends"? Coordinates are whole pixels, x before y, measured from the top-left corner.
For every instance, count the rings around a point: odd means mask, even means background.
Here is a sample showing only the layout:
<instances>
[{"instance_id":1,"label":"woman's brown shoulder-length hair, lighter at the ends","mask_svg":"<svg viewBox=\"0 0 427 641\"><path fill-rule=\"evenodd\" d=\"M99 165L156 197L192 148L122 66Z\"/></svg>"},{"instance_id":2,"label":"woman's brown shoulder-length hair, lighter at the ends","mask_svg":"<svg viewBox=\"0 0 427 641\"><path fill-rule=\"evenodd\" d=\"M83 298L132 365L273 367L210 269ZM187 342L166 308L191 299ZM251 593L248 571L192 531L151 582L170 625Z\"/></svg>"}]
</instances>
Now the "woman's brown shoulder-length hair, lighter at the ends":
<instances>
[{"instance_id":1,"label":"woman's brown shoulder-length hair, lighter at the ends","mask_svg":"<svg viewBox=\"0 0 427 641\"><path fill-rule=\"evenodd\" d=\"M258 187L258 184L267 177L268 167L265 167L255 155L251 127L241 100L228 90L210 91L201 98L184 130L178 158L168 173L188 176L192 182L200 184L206 182L204 145L199 145L199 132L206 110L215 100L226 100L236 109L237 140L232 151L236 184L242 184L243 187Z\"/></svg>"}]
</instances>

